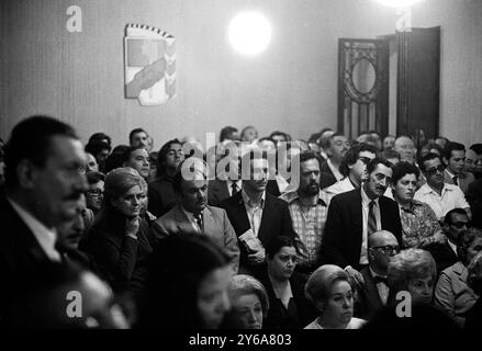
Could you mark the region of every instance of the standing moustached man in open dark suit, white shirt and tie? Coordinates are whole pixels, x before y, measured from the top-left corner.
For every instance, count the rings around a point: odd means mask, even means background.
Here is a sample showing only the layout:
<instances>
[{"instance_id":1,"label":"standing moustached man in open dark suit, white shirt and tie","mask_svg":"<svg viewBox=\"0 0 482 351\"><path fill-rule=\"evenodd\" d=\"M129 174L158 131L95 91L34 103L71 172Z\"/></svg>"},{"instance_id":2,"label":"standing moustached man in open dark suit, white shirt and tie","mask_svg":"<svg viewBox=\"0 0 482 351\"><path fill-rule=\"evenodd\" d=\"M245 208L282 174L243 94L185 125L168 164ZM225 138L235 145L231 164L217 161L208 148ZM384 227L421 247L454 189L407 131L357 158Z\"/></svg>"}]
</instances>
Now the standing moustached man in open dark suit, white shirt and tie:
<instances>
[{"instance_id":1,"label":"standing moustached man in open dark suit, white shirt and tie","mask_svg":"<svg viewBox=\"0 0 482 351\"><path fill-rule=\"evenodd\" d=\"M392 178L392 165L383 158L372 159L360 189L338 194L328 206L325 236L320 259L344 268L359 284L359 270L368 264L368 237L389 230L402 244L402 225L397 204L383 196Z\"/></svg>"}]
</instances>

